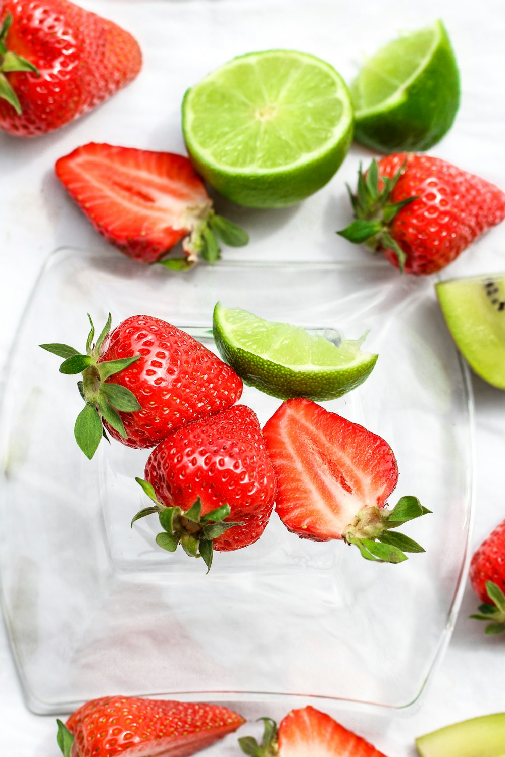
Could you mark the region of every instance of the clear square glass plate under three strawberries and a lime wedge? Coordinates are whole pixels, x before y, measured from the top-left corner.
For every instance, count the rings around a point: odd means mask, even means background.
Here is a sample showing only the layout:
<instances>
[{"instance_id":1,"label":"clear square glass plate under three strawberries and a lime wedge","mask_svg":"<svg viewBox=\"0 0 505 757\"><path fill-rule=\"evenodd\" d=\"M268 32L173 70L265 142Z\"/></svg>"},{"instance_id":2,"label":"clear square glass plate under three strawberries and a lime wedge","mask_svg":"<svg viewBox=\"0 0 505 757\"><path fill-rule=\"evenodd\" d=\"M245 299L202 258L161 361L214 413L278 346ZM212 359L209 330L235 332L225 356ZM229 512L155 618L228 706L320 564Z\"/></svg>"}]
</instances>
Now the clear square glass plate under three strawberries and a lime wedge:
<instances>
[{"instance_id":1,"label":"clear square glass plate under three strawberries and a lime wedge","mask_svg":"<svg viewBox=\"0 0 505 757\"><path fill-rule=\"evenodd\" d=\"M267 319L366 329L370 378L325 406L386 438L400 469L394 504L433 511L406 528L426 547L401 565L341 542L263 537L200 560L154 544L157 519L129 527L148 450L113 441L92 461L73 439L75 381L38 344L84 345L135 313L215 349L217 300ZM280 400L245 388L263 425ZM61 249L33 291L8 361L0 419L2 600L26 703L62 712L109 693L244 703L300 697L403 708L425 687L460 601L472 510L469 385L432 282L385 264L219 263L172 275L116 252ZM320 698L320 699L318 699Z\"/></svg>"}]
</instances>

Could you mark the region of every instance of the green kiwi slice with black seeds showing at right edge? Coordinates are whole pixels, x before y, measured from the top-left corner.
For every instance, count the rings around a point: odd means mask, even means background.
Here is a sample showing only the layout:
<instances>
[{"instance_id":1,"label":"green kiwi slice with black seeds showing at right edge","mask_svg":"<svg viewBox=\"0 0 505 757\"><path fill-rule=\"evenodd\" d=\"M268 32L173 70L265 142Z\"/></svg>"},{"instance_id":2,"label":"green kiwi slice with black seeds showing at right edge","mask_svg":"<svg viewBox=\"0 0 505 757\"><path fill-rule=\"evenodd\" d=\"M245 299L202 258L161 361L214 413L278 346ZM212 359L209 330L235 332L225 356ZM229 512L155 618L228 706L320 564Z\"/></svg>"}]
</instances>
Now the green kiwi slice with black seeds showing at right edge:
<instances>
[{"instance_id":1,"label":"green kiwi slice with black seeds showing at right edge","mask_svg":"<svg viewBox=\"0 0 505 757\"><path fill-rule=\"evenodd\" d=\"M505 273L448 279L435 289L469 366L489 384L505 389Z\"/></svg>"}]
</instances>

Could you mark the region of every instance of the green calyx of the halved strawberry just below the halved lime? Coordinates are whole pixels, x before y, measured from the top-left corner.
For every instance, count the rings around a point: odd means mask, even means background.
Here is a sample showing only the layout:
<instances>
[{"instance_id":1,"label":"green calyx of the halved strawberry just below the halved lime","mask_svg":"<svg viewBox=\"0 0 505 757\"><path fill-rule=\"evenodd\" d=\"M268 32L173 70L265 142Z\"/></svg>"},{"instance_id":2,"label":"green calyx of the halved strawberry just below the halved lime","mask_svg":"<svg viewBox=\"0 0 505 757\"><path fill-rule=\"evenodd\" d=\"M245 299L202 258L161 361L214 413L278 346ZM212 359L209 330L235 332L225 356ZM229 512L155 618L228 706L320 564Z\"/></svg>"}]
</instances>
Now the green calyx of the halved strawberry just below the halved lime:
<instances>
[{"instance_id":1,"label":"green calyx of the halved strawberry just below the halved lime","mask_svg":"<svg viewBox=\"0 0 505 757\"><path fill-rule=\"evenodd\" d=\"M189 235L182 240L185 257L158 261L159 265L170 270L188 270L195 265L198 258L214 265L221 259L220 241L228 247L244 247L249 241L245 229L223 216L218 216L208 204L188 208L182 225L191 229Z\"/></svg>"}]
</instances>

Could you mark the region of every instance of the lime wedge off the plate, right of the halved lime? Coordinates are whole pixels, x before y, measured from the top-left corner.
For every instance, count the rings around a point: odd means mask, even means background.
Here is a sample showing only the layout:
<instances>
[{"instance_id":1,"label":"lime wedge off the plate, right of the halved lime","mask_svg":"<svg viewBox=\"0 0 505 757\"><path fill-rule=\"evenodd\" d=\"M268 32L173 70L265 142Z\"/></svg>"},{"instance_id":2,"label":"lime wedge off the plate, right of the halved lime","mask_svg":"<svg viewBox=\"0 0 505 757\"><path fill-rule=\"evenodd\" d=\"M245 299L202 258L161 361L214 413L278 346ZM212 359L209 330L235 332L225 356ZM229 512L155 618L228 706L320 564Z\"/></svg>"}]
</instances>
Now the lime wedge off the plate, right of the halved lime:
<instances>
[{"instance_id":1,"label":"lime wedge off the plate, right of the halved lime","mask_svg":"<svg viewBox=\"0 0 505 757\"><path fill-rule=\"evenodd\" d=\"M460 73L438 20L385 45L351 84L357 142L379 152L427 150L452 126Z\"/></svg>"}]
</instances>

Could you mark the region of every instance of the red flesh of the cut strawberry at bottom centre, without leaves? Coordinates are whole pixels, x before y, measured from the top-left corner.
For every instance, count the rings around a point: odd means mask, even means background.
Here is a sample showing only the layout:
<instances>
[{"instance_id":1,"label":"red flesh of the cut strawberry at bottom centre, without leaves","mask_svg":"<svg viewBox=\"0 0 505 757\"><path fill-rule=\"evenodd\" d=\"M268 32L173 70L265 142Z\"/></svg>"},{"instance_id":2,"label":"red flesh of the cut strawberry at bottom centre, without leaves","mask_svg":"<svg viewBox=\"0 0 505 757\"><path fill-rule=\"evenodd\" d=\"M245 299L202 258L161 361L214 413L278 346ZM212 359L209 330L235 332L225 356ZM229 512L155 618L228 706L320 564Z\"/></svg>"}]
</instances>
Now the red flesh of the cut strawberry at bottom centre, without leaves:
<instances>
[{"instance_id":1,"label":"red flesh of the cut strawberry at bottom centre, without leaves","mask_svg":"<svg viewBox=\"0 0 505 757\"><path fill-rule=\"evenodd\" d=\"M385 757L375 746L324 712L291 710L279 724L279 757Z\"/></svg>"}]
</instances>

